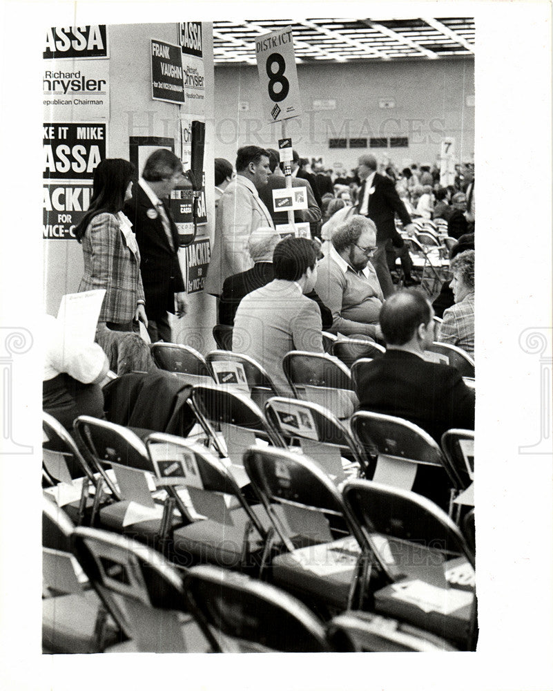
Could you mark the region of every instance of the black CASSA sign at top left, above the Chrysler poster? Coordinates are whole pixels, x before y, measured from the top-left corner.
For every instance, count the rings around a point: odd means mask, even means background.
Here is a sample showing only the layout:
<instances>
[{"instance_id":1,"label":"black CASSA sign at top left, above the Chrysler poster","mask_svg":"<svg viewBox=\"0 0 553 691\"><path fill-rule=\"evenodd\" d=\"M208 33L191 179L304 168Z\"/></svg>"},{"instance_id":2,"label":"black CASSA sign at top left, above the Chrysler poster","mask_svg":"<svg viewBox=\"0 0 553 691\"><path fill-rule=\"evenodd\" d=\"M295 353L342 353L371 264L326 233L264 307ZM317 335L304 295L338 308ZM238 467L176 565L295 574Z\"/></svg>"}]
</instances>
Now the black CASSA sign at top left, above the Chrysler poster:
<instances>
[{"instance_id":1,"label":"black CASSA sign at top left, above the Chrysler poster","mask_svg":"<svg viewBox=\"0 0 553 691\"><path fill-rule=\"evenodd\" d=\"M46 29L44 59L108 57L108 33L105 24L88 26L52 26Z\"/></svg>"}]
</instances>

